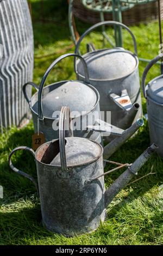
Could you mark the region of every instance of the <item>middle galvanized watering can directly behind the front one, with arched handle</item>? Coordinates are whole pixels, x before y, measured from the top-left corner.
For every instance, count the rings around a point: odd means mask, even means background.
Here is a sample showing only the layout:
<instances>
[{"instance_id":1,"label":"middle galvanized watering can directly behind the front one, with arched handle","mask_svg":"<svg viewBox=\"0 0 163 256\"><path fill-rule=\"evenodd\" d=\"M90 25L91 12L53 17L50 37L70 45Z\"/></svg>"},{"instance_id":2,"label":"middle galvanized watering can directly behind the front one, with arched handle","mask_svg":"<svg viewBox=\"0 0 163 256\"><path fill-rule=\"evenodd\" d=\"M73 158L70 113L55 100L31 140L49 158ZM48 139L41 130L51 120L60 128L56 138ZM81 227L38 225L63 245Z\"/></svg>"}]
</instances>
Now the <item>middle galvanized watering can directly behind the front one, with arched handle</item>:
<instances>
[{"instance_id":1,"label":"middle galvanized watering can directly behind the front one, with arched handle","mask_svg":"<svg viewBox=\"0 0 163 256\"><path fill-rule=\"evenodd\" d=\"M54 66L60 60L71 56L78 57L83 64L84 82L61 81L43 88L46 78ZM26 94L26 88L29 85L37 90L30 100ZM124 132L123 129L106 124L101 120L99 93L90 85L86 62L78 54L69 53L56 59L43 75L40 87L28 82L23 86L23 93L32 111L35 132L43 132L46 141L59 138L58 129L54 131L53 127L54 125L57 127L62 106L70 107L73 127L80 124L78 129L73 129L76 137L90 138L103 144L101 132L107 132L107 134L109 132L112 136L121 136Z\"/></svg>"}]
</instances>

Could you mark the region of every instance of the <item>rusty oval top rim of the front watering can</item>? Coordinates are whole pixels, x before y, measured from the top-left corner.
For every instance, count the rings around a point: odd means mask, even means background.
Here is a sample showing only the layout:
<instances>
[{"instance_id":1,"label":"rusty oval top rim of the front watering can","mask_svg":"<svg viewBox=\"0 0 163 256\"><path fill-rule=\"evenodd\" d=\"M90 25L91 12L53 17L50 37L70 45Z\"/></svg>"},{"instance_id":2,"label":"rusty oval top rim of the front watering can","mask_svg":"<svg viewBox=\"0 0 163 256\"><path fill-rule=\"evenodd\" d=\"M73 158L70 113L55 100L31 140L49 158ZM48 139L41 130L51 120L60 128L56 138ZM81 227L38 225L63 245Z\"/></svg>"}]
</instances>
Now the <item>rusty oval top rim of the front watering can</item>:
<instances>
[{"instance_id":1,"label":"rusty oval top rim of the front watering can","mask_svg":"<svg viewBox=\"0 0 163 256\"><path fill-rule=\"evenodd\" d=\"M66 139L81 139L80 137L66 137L65 138L65 140ZM98 142L96 142L96 141L93 141L92 139L87 139L87 138L82 138L82 139L84 139L85 141L91 141L93 144L96 144L96 145L98 145L98 147L101 149L101 152L99 153L99 155L97 156L97 157L95 157L93 160L91 160L91 161L87 161L87 162L84 162L84 163L82 163L82 164L73 164L73 165L68 165L67 166L67 171L68 171L68 169L72 169L72 168L74 168L74 167L80 167L80 166L85 166L85 165L87 165L87 164L91 164L91 163L93 163L93 162L96 162L98 159L100 159L100 157L102 157L102 155L103 155L103 147L102 147L102 145L101 144L99 144ZM37 159L37 154L38 154L38 152L39 152L39 150L43 147L43 145L46 145L46 144L51 144L51 143L55 143L55 142L59 142L59 139L54 139L53 141L50 141L50 142L46 142L46 143L43 143L42 145L40 145L40 147L39 148L37 148L37 150L35 151L35 160L38 162L38 163L40 163L40 164L43 164L44 166L52 166L52 167L56 167L56 168L60 168L61 169L61 165L59 166L59 165L54 165L54 164L48 164L48 163L43 163L43 162L41 162L40 160L38 160Z\"/></svg>"}]
</instances>

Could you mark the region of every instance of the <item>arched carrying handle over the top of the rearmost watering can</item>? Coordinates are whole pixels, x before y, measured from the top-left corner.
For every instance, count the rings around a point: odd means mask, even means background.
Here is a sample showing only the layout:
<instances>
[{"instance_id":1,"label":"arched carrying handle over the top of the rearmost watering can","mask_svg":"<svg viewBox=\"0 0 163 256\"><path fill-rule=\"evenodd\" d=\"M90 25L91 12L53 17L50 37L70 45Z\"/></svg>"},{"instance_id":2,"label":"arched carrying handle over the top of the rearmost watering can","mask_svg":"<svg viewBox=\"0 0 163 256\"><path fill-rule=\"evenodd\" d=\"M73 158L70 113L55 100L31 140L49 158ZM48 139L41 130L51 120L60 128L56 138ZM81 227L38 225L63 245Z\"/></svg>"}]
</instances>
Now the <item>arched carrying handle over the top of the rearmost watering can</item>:
<instances>
[{"instance_id":1,"label":"arched carrying handle over the top of the rearmost watering can","mask_svg":"<svg viewBox=\"0 0 163 256\"><path fill-rule=\"evenodd\" d=\"M133 39L133 42L134 42L134 51L135 51L135 54L137 55L137 44L136 44L136 39L135 39L135 36L134 34L130 31L130 29L124 25L123 23L121 22L118 22L118 21L102 21L102 22L99 22L95 25L93 25L92 27L90 27L89 29L87 29L83 35L80 36L78 42L77 42L77 45L76 45L76 50L75 50L75 53L78 53L79 51L79 47L80 47L80 44L82 42L82 40L84 39L84 37L89 34L92 30L94 30L95 28L98 28L98 27L101 27L103 25L117 25L117 26L120 26L120 27L123 27L125 28L131 35L132 39ZM75 66L76 68L76 66ZM76 70L76 69L75 69Z\"/></svg>"}]
</instances>

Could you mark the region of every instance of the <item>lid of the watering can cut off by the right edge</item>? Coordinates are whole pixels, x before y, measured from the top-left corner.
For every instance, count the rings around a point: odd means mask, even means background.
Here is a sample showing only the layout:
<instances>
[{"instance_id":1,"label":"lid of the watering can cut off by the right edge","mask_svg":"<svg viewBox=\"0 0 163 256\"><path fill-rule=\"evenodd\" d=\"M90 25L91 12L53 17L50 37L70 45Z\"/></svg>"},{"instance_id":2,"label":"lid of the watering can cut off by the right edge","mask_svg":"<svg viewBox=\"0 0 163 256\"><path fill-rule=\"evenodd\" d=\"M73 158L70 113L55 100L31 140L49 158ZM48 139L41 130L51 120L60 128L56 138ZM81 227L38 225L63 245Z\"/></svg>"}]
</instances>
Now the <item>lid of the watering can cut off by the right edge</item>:
<instances>
[{"instance_id":1,"label":"lid of the watering can cut off by the right edge","mask_svg":"<svg viewBox=\"0 0 163 256\"><path fill-rule=\"evenodd\" d=\"M154 78L147 86L147 94L152 100L163 104L163 77Z\"/></svg>"}]
</instances>

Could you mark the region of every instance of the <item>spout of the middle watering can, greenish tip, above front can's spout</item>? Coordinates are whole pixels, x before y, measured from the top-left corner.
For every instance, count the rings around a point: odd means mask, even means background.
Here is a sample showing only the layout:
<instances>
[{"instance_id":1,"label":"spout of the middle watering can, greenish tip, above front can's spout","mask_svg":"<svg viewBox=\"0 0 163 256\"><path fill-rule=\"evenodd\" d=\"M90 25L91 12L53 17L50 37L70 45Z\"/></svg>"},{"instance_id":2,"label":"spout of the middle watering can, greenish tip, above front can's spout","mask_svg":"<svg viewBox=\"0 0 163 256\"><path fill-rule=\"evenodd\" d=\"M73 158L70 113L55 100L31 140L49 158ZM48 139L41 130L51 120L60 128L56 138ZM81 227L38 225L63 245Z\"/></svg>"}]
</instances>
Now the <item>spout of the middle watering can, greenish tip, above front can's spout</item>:
<instances>
[{"instance_id":1,"label":"spout of the middle watering can, greenish tip, above front can's spout","mask_svg":"<svg viewBox=\"0 0 163 256\"><path fill-rule=\"evenodd\" d=\"M137 119L137 121L125 130L120 137L115 138L108 145L104 147L103 157L108 159L115 151L123 145L141 126L143 126L143 119Z\"/></svg>"}]
</instances>

